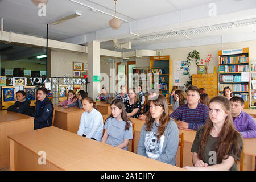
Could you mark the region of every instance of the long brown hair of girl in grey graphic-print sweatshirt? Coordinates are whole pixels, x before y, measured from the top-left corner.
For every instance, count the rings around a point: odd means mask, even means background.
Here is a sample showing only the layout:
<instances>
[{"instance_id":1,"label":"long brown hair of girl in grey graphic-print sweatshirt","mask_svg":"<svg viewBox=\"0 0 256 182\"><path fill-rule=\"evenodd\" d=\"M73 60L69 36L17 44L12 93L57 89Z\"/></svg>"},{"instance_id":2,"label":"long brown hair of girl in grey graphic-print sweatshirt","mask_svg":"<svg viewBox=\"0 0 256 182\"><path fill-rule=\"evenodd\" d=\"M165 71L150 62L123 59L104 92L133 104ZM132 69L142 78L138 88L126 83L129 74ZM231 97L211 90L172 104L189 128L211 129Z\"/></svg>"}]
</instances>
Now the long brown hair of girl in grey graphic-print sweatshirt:
<instances>
[{"instance_id":1,"label":"long brown hair of girl in grey graphic-print sweatshirt","mask_svg":"<svg viewBox=\"0 0 256 182\"><path fill-rule=\"evenodd\" d=\"M156 106L163 107L163 110L164 110L159 119L159 122L160 122L160 126L158 127L158 133L159 133L158 140L159 140L159 138L164 134L164 130L166 129L168 122L170 121L168 103L167 103L166 97L164 97L162 94L159 94L158 98L156 98L155 100L148 100L148 101L149 101L148 102L149 105L151 103L154 103L154 105ZM146 113L146 121L145 121L146 131L152 130L154 121L155 119L152 118L150 111L148 111Z\"/></svg>"}]
</instances>

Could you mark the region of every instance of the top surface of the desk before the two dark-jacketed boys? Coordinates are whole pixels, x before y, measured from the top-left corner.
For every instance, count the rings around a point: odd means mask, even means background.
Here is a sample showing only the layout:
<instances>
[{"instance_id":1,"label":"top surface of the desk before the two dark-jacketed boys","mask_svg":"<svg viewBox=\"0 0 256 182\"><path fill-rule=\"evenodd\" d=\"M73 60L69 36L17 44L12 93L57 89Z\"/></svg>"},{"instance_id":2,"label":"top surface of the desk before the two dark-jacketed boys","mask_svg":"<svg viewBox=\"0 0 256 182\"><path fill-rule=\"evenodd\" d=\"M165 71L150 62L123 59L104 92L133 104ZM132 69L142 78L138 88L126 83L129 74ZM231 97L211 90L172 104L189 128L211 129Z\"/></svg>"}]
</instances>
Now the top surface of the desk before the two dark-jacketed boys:
<instances>
[{"instance_id":1,"label":"top surface of the desk before the two dark-jacketed boys","mask_svg":"<svg viewBox=\"0 0 256 182\"><path fill-rule=\"evenodd\" d=\"M7 110L0 110L0 124L6 122L23 121L24 119L34 119L26 114L15 113Z\"/></svg>"}]
</instances>

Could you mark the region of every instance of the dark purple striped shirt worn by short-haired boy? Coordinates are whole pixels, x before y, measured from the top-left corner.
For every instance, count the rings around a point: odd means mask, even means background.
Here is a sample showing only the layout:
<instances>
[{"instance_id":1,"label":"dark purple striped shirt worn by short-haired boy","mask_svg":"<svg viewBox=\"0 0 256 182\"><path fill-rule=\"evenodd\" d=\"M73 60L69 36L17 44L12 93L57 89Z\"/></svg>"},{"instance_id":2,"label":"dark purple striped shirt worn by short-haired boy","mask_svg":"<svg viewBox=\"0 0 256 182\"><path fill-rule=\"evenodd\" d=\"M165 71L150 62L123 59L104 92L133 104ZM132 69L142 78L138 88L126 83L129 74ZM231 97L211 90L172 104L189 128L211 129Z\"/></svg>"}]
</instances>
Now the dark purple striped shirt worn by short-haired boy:
<instances>
[{"instance_id":1,"label":"dark purple striped shirt worn by short-haired boy","mask_svg":"<svg viewBox=\"0 0 256 182\"><path fill-rule=\"evenodd\" d=\"M196 109L190 109L188 104L184 104L170 114L170 117L187 122L189 129L197 130L200 126L205 125L209 117L209 109L201 103L198 103Z\"/></svg>"}]
</instances>

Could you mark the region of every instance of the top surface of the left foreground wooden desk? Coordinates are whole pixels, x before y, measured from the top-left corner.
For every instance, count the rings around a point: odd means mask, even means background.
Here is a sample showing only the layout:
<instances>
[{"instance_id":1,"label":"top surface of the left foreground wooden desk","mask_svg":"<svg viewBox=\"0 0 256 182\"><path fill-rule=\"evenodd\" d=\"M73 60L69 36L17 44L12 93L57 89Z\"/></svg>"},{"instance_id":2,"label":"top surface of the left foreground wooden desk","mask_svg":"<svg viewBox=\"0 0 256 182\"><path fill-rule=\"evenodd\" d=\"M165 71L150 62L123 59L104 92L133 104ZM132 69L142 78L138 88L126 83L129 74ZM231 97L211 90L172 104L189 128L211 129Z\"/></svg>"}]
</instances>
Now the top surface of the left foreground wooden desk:
<instances>
[{"instance_id":1,"label":"top surface of the left foreground wooden desk","mask_svg":"<svg viewBox=\"0 0 256 182\"><path fill-rule=\"evenodd\" d=\"M45 151L47 162L59 168L113 147L53 126L10 135L9 138L36 155Z\"/></svg>"}]
</instances>

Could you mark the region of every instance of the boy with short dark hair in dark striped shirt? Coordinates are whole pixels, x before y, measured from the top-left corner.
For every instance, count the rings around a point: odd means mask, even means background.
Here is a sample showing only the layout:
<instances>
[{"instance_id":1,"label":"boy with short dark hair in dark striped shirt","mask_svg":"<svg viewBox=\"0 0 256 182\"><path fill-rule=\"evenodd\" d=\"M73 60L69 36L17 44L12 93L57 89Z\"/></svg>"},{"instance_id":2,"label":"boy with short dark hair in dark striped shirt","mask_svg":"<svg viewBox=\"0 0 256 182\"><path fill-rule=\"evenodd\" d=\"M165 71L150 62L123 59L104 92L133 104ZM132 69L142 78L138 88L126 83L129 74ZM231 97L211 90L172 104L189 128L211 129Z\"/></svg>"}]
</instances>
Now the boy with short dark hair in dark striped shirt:
<instances>
[{"instance_id":1,"label":"boy with short dark hair in dark striped shirt","mask_svg":"<svg viewBox=\"0 0 256 182\"><path fill-rule=\"evenodd\" d=\"M187 104L180 106L172 114L171 118L180 120L177 126L182 130L197 130L205 125L209 117L209 109L204 104L199 103L200 94L196 86L189 86L187 92Z\"/></svg>"}]
</instances>

